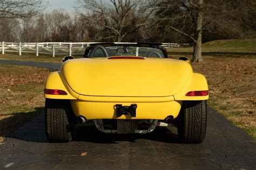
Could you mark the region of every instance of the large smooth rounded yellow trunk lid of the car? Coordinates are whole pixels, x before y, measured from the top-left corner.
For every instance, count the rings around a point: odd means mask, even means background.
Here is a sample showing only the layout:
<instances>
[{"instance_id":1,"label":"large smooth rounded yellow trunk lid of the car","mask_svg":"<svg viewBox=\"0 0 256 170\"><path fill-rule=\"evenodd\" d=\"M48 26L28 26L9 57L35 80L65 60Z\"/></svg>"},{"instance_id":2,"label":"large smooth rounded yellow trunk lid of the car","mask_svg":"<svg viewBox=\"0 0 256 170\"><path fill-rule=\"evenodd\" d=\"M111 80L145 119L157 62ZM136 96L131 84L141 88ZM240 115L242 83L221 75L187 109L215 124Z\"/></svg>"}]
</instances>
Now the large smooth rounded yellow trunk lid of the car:
<instances>
[{"instance_id":1,"label":"large smooth rounded yellow trunk lid of the car","mask_svg":"<svg viewBox=\"0 0 256 170\"><path fill-rule=\"evenodd\" d=\"M68 60L61 72L85 96L165 97L183 89L192 68L177 59L84 58Z\"/></svg>"}]
</instances>

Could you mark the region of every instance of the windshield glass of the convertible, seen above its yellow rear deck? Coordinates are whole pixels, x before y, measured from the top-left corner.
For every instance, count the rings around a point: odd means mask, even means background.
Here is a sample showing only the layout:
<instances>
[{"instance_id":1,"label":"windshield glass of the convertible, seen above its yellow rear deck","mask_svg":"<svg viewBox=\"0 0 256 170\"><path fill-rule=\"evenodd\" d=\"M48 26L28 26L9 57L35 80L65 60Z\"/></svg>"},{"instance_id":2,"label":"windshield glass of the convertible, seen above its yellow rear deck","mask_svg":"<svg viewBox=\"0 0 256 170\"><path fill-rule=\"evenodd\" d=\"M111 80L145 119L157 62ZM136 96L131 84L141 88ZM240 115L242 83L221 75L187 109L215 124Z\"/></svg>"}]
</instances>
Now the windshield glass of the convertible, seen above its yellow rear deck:
<instances>
[{"instance_id":1,"label":"windshield glass of the convertible, seen above its yellow rear deck","mask_svg":"<svg viewBox=\"0 0 256 170\"><path fill-rule=\"evenodd\" d=\"M160 49L153 47L133 47L133 46L109 46L105 47L107 55L112 56L142 56L153 58L165 58ZM92 57L105 57L102 49L97 49Z\"/></svg>"}]
</instances>

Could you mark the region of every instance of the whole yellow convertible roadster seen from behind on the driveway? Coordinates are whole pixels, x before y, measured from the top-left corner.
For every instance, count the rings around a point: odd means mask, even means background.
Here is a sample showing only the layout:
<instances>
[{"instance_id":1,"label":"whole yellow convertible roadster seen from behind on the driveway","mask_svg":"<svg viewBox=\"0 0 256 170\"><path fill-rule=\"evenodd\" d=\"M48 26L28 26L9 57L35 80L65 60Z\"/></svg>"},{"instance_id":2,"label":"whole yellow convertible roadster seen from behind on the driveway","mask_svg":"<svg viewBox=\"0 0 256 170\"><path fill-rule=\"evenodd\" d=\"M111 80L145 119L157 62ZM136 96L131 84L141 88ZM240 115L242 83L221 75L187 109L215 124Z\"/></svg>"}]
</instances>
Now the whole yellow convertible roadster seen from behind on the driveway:
<instances>
[{"instance_id":1,"label":"whole yellow convertible roadster seen from behind on the driveway","mask_svg":"<svg viewBox=\"0 0 256 170\"><path fill-rule=\"evenodd\" d=\"M104 133L176 126L181 142L205 138L207 81L188 58L168 58L160 43L90 44L84 58L63 58L44 96L50 142L71 141L70 125L88 122Z\"/></svg>"}]
</instances>

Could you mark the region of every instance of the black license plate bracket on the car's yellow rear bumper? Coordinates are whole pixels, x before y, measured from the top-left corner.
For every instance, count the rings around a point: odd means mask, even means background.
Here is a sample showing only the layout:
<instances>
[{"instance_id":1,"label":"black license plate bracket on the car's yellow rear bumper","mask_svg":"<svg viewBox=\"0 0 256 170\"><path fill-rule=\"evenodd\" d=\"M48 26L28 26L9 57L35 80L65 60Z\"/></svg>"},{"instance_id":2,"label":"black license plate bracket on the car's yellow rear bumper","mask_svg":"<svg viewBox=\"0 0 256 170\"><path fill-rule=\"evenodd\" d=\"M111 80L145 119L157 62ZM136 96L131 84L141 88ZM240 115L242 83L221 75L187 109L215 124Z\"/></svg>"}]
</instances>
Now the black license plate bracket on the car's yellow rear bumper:
<instances>
[{"instance_id":1,"label":"black license plate bracket on the car's yellow rear bumper","mask_svg":"<svg viewBox=\"0 0 256 170\"><path fill-rule=\"evenodd\" d=\"M130 106L123 106L121 104L116 104L117 117L121 115L131 115L131 117L136 117L137 104L131 104Z\"/></svg>"}]
</instances>

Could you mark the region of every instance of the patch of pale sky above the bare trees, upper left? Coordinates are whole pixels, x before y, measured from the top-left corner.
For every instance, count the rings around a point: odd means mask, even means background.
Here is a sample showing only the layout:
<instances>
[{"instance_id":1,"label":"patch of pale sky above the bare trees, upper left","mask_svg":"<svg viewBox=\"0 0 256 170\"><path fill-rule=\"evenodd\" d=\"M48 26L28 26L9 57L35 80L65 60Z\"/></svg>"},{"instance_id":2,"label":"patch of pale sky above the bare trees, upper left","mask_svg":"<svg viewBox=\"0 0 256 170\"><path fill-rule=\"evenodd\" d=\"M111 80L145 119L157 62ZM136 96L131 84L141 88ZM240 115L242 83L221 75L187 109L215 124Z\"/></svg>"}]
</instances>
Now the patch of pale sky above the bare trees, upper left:
<instances>
[{"instance_id":1,"label":"patch of pale sky above the bare trees, upper left","mask_svg":"<svg viewBox=\"0 0 256 170\"><path fill-rule=\"evenodd\" d=\"M47 4L45 12L51 12L53 9L65 9L70 14L75 12L73 6L76 0L44 0L44 4Z\"/></svg>"}]
</instances>

